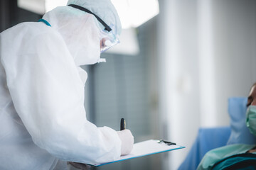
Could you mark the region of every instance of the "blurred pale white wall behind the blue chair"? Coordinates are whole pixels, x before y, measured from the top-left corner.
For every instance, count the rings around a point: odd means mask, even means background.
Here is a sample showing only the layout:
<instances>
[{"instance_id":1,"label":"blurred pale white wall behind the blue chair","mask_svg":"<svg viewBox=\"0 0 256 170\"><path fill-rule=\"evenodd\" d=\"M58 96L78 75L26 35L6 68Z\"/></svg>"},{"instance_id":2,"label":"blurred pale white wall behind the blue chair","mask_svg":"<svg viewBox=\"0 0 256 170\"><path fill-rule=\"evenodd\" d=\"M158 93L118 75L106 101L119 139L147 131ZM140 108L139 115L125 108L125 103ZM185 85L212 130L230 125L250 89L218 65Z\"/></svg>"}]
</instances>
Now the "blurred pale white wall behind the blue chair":
<instances>
[{"instance_id":1,"label":"blurred pale white wall behind the blue chair","mask_svg":"<svg viewBox=\"0 0 256 170\"><path fill-rule=\"evenodd\" d=\"M247 96L256 81L256 2L159 2L162 137L187 147L170 152L166 169L176 169L198 128L229 125L228 97Z\"/></svg>"}]
</instances>

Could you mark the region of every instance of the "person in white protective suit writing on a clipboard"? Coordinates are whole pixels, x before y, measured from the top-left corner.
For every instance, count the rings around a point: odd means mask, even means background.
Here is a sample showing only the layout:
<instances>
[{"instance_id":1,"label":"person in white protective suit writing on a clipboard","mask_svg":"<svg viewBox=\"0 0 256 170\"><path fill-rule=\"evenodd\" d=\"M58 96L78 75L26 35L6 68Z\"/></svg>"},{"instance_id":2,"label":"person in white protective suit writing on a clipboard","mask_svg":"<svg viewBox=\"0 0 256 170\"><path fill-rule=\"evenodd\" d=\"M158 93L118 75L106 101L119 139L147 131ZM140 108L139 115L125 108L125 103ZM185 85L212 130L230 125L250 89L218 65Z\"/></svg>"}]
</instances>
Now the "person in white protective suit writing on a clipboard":
<instances>
[{"instance_id":1,"label":"person in white protective suit writing on a clipboard","mask_svg":"<svg viewBox=\"0 0 256 170\"><path fill-rule=\"evenodd\" d=\"M68 6L73 4L71 6ZM69 0L0 34L0 169L109 162L132 150L129 130L86 119L80 65L104 61L121 24L110 0Z\"/></svg>"}]
</instances>

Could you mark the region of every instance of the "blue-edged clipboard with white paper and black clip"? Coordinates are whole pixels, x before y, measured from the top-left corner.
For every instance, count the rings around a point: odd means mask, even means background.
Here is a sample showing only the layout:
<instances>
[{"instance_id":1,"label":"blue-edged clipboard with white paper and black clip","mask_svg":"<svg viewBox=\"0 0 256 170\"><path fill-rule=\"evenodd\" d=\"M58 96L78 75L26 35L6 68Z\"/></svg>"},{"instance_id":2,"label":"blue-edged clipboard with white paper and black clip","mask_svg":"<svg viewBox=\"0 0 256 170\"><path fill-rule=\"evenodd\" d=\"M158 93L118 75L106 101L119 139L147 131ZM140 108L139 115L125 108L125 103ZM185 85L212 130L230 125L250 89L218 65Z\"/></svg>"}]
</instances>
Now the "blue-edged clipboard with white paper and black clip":
<instances>
[{"instance_id":1,"label":"blue-edged clipboard with white paper and black clip","mask_svg":"<svg viewBox=\"0 0 256 170\"><path fill-rule=\"evenodd\" d=\"M162 152L169 152L171 150L183 149L185 147L176 145L172 142L167 142L164 140L145 140L143 142L138 142L134 144L132 152L130 154L119 157L119 159L113 162L102 162L100 164L89 164L92 166L102 166L105 164L112 164L114 162L121 162L127 159L133 159L137 157L144 157L151 154L159 154Z\"/></svg>"}]
</instances>

